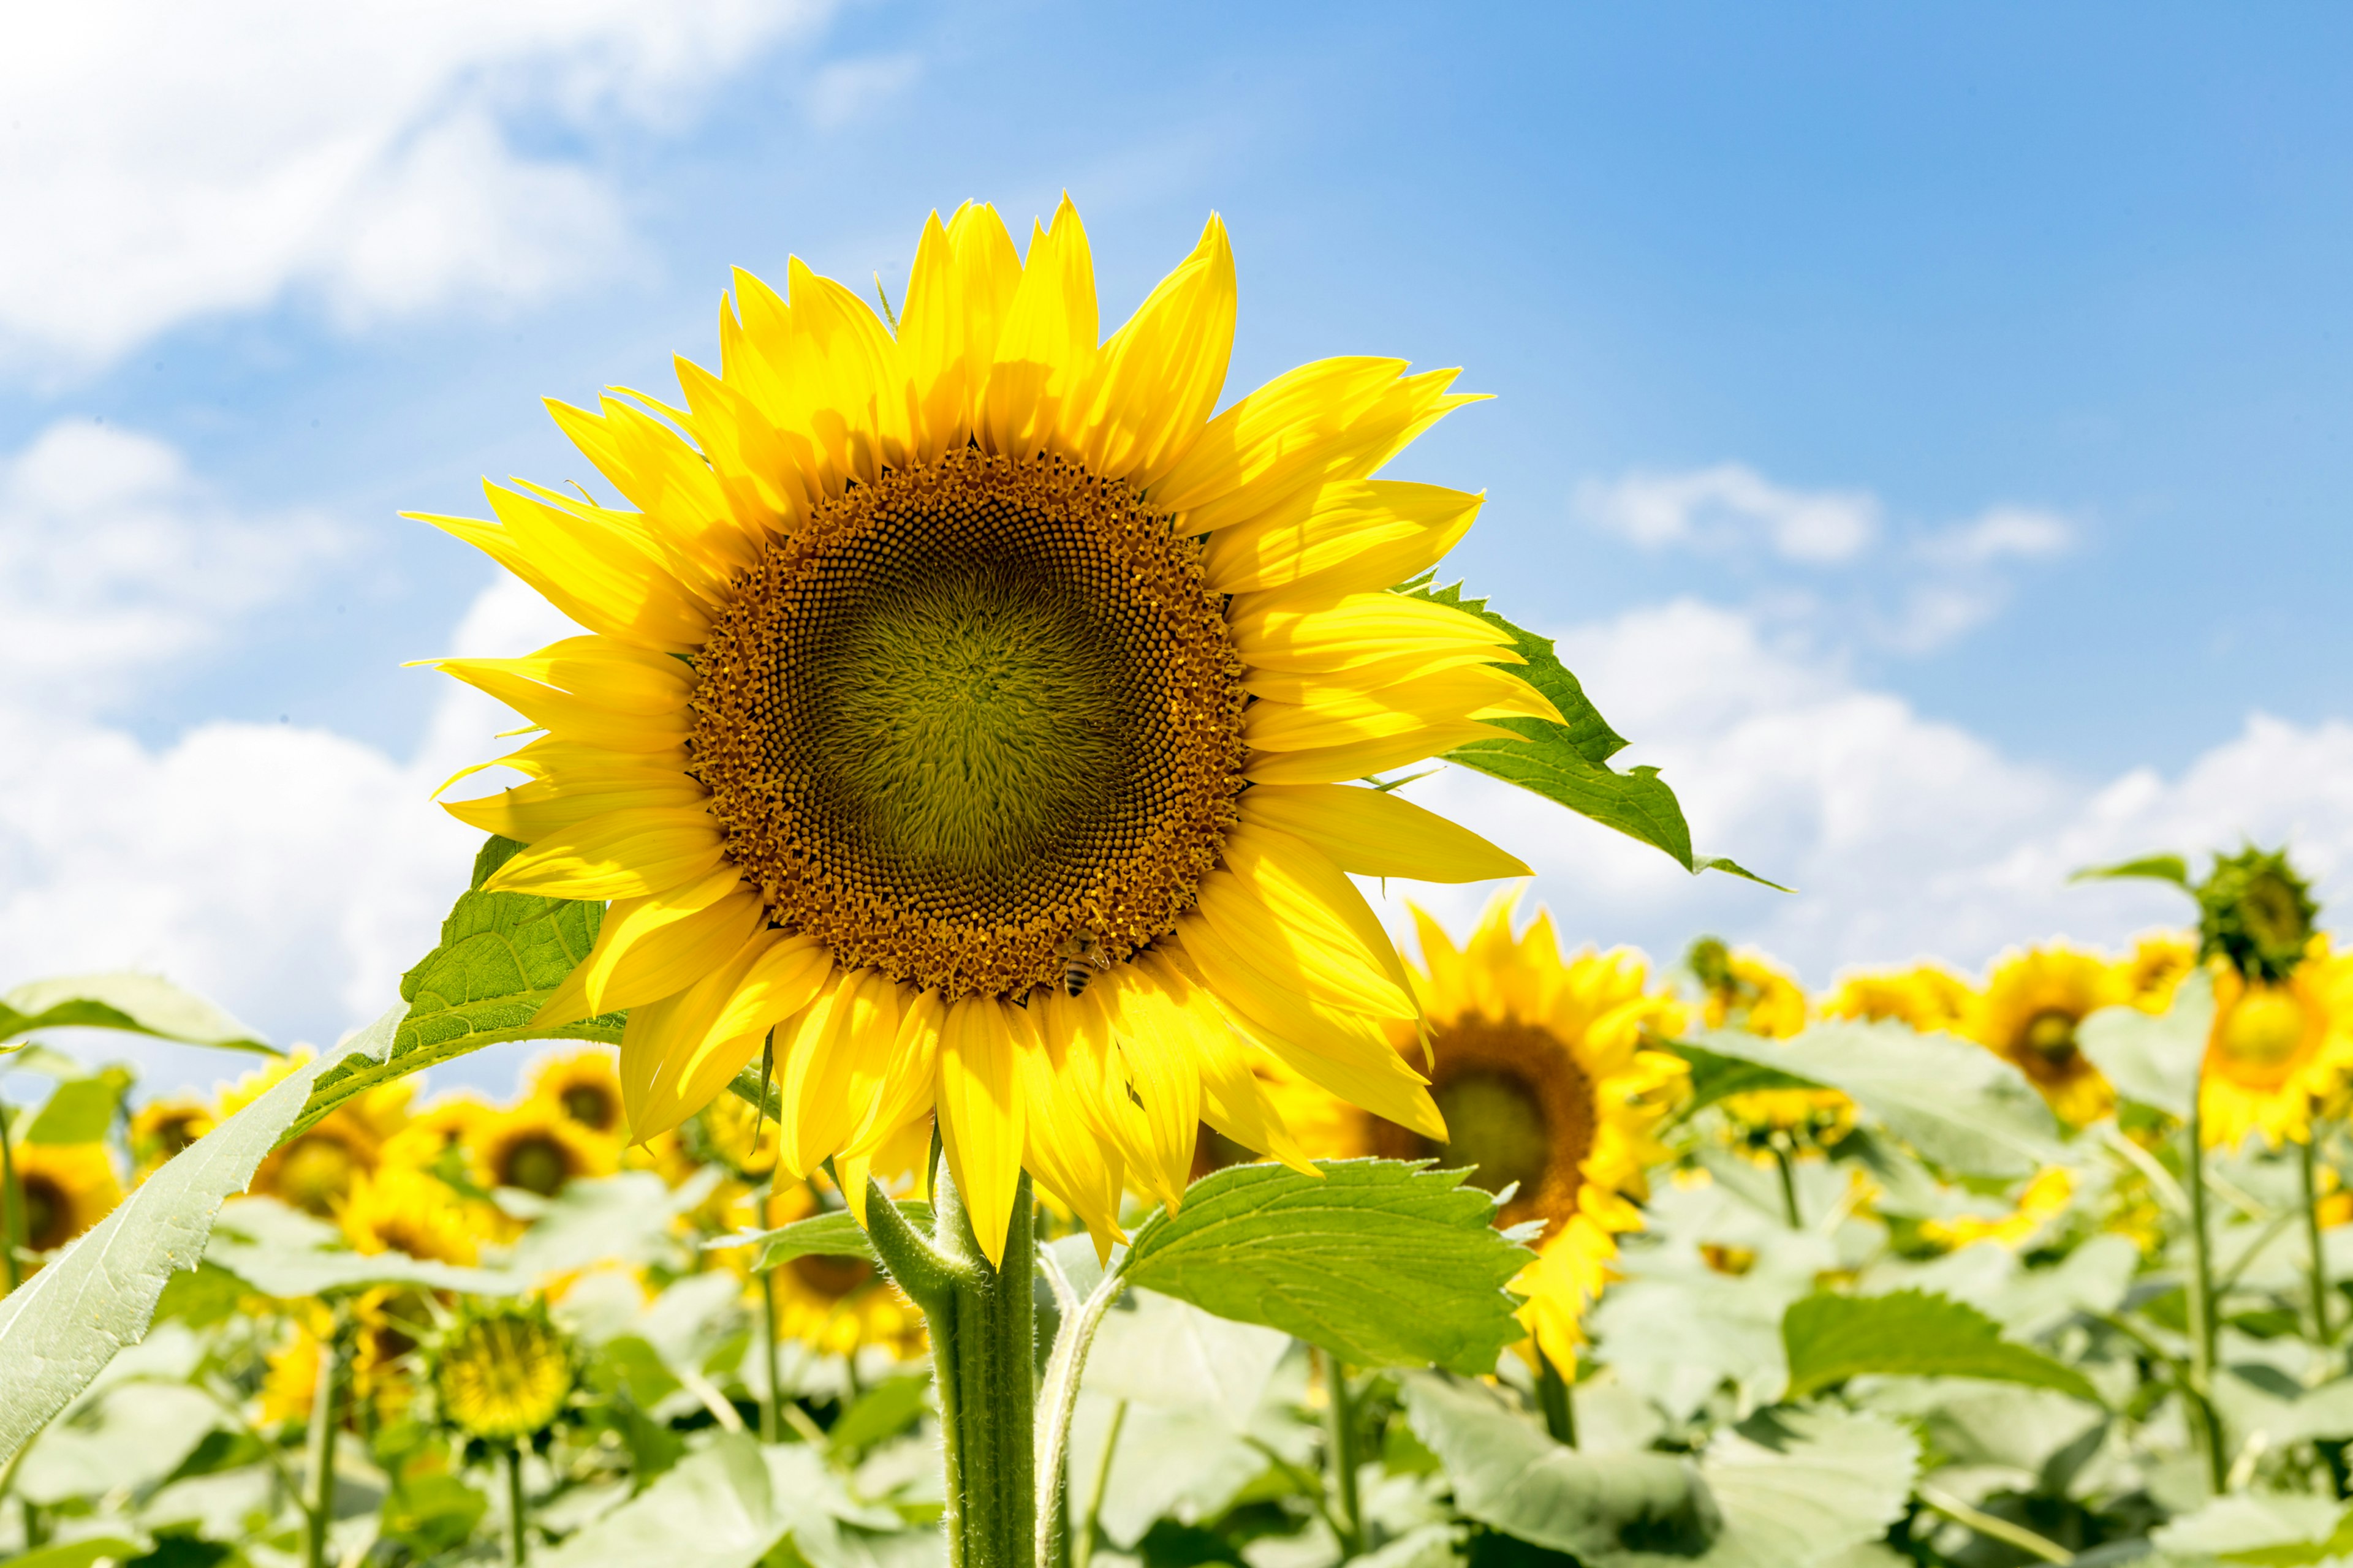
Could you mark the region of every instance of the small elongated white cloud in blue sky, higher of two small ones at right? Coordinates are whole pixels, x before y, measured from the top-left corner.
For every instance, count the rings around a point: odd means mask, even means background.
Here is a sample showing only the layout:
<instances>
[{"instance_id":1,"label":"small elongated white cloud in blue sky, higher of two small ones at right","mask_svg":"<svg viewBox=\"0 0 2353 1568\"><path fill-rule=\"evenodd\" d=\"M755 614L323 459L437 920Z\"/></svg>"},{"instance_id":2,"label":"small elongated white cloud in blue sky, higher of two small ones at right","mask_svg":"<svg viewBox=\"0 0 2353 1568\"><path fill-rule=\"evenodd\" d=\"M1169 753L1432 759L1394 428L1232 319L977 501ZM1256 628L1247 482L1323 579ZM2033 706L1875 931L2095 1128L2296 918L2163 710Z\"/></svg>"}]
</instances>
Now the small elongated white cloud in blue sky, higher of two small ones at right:
<instances>
[{"instance_id":1,"label":"small elongated white cloud in blue sky, higher of two small ones at right","mask_svg":"<svg viewBox=\"0 0 2353 1568\"><path fill-rule=\"evenodd\" d=\"M1588 480L1577 487L1577 510L1649 550L1727 548L1762 534L1777 555L1812 564L1854 559L1880 531L1878 496L1784 489L1746 463Z\"/></svg>"}]
</instances>

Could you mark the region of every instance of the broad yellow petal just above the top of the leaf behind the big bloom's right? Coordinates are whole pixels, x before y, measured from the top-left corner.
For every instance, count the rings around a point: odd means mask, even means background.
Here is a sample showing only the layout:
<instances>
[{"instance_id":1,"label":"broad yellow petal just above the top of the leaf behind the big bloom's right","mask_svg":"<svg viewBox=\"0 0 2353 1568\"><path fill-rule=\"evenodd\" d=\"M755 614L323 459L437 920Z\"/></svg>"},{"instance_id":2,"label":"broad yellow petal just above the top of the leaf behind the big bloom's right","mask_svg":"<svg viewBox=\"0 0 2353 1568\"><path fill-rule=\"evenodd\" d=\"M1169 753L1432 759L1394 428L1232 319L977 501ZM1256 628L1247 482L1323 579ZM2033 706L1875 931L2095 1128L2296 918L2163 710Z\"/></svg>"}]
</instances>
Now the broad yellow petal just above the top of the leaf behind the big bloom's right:
<instances>
[{"instance_id":1,"label":"broad yellow petal just above the top of the leaf behind the big bloom's right","mask_svg":"<svg viewBox=\"0 0 2353 1568\"><path fill-rule=\"evenodd\" d=\"M1202 564L1221 592L1369 592L1428 571L1485 496L1400 480L1341 480L1209 536Z\"/></svg>"}]
</instances>

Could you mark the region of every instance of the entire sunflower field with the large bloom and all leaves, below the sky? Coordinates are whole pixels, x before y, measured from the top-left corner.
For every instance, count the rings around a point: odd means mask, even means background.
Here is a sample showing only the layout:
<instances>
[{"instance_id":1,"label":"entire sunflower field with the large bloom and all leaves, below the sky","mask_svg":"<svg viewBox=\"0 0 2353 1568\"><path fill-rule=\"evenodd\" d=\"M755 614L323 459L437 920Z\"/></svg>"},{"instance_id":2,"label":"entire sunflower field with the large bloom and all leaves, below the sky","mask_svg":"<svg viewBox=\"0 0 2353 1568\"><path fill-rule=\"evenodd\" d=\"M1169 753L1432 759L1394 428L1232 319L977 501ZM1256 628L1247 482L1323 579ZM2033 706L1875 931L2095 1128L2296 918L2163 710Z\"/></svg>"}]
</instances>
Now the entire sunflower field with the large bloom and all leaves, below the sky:
<instances>
[{"instance_id":1,"label":"entire sunflower field with the large bloom and all leaves, below the sky","mask_svg":"<svg viewBox=\"0 0 2353 1568\"><path fill-rule=\"evenodd\" d=\"M2181 926L1984 973L1565 945L1417 764L1751 872L1438 583L1480 496L1374 477L1454 371L1217 411L1235 287L1212 219L1104 339L1068 202L934 214L901 301L739 275L682 407L551 404L621 505L426 520L581 635L431 661L529 738L398 1001L0 997L0 1552L2353 1559L2353 954L2289 858L2087 867ZM1499 891L1400 945L1384 879ZM485 1048L511 1100L419 1077Z\"/></svg>"}]
</instances>

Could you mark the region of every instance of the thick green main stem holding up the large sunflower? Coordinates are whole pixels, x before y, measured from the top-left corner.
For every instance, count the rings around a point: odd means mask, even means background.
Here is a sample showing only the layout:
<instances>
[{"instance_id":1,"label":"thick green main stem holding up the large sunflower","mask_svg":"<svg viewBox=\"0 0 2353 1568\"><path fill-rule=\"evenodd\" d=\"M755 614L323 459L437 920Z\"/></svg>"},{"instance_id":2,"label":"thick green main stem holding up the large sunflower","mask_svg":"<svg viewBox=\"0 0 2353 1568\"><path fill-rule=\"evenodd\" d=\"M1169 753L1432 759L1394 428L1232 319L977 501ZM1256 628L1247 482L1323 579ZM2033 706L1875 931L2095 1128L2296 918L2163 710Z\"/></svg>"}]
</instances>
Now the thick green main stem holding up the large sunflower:
<instances>
[{"instance_id":1,"label":"thick green main stem holding up the large sunflower","mask_svg":"<svg viewBox=\"0 0 2353 1568\"><path fill-rule=\"evenodd\" d=\"M944 1159L932 1168L932 1234L868 1187L866 1222L882 1267L932 1328L939 1436L946 1465L948 1568L1035 1568L1038 1361L1031 1269L1035 1220L1028 1173L1014 1190L1005 1269L988 1262Z\"/></svg>"}]
</instances>

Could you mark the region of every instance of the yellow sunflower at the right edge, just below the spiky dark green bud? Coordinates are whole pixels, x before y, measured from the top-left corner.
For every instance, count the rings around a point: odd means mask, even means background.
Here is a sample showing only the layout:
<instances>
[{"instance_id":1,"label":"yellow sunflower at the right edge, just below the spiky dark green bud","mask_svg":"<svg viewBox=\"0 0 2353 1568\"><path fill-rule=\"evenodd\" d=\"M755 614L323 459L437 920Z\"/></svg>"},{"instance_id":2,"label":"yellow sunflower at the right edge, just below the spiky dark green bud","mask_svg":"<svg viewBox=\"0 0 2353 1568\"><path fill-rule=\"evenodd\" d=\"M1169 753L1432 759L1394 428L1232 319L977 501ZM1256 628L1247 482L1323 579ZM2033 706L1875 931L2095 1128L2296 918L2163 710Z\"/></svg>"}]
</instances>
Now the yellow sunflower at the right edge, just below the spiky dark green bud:
<instances>
[{"instance_id":1,"label":"yellow sunflower at the right edge, just below the spiky dark green bud","mask_svg":"<svg viewBox=\"0 0 2353 1568\"><path fill-rule=\"evenodd\" d=\"M2242 980L2214 964L2214 1027L2198 1093L2207 1147L2235 1150L2249 1133L2280 1147L2311 1138L2313 1103L2353 1070L2353 961L2325 936L2285 980Z\"/></svg>"}]
</instances>

